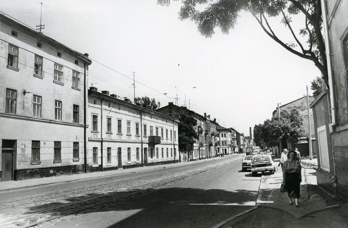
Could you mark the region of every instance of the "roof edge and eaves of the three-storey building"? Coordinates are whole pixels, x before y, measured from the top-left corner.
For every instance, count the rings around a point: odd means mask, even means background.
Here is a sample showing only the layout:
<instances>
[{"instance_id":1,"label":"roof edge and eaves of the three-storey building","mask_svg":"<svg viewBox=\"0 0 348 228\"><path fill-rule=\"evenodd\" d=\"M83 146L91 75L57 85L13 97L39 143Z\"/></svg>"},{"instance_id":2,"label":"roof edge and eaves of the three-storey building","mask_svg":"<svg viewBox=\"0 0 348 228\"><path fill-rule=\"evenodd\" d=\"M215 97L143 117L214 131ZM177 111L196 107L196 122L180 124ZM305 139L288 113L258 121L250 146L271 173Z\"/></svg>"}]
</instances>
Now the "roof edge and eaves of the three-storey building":
<instances>
[{"instance_id":1,"label":"roof edge and eaves of the three-storey building","mask_svg":"<svg viewBox=\"0 0 348 228\"><path fill-rule=\"evenodd\" d=\"M42 42L46 42L54 47L63 49L64 51L66 51L70 55L73 55L73 56L79 58L80 60L82 60L88 64L92 63L92 61L88 58L88 54L84 55L82 53L79 53L79 52L65 46L64 44L52 39L51 37L46 36L43 33L36 31L35 29L29 27L28 25L16 20L15 18L13 18L7 14L5 15L3 13L0 13L0 20L3 21L4 23L8 24L9 26L15 28L15 29L18 29L18 30L25 32L33 37L36 37L38 40L40 40Z\"/></svg>"}]
</instances>

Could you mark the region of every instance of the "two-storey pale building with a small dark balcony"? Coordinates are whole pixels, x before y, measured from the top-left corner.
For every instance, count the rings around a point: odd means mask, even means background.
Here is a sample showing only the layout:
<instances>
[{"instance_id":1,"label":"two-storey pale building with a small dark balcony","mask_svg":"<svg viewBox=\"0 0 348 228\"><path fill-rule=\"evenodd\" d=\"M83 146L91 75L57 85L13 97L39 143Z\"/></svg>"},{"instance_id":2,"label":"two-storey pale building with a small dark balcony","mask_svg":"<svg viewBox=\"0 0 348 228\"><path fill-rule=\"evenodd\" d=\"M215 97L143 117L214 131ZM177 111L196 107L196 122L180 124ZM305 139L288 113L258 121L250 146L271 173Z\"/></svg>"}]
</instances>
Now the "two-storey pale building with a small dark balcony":
<instances>
[{"instance_id":1,"label":"two-storey pale building with a small dark balcony","mask_svg":"<svg viewBox=\"0 0 348 228\"><path fill-rule=\"evenodd\" d=\"M178 122L169 115L88 90L88 170L127 169L179 160Z\"/></svg>"}]
</instances>

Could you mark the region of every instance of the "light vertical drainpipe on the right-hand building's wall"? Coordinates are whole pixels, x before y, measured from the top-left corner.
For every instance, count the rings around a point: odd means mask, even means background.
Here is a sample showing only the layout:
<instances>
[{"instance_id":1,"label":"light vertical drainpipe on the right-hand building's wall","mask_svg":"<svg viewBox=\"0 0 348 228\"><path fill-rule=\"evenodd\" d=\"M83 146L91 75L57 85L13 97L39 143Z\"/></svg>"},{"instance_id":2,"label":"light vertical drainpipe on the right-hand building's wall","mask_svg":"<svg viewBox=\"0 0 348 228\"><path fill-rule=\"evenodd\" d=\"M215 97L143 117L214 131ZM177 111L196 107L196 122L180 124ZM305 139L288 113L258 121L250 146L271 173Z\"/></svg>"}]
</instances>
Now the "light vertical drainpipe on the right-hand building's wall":
<instances>
[{"instance_id":1,"label":"light vertical drainpipe on the right-hand building's wall","mask_svg":"<svg viewBox=\"0 0 348 228\"><path fill-rule=\"evenodd\" d=\"M326 5L326 0L321 0L322 5L322 19L324 24L324 35L325 35L325 49L326 49L326 58L328 62L328 77L330 84L330 105L331 105L331 123L333 126L336 124L336 111L335 111L335 100L334 100L334 78L333 78L333 70L332 70L332 54L331 54L331 46L330 46L330 36L329 36L329 23L328 23L328 9ZM332 130L331 130L332 131ZM332 132L331 132L332 133Z\"/></svg>"}]
</instances>

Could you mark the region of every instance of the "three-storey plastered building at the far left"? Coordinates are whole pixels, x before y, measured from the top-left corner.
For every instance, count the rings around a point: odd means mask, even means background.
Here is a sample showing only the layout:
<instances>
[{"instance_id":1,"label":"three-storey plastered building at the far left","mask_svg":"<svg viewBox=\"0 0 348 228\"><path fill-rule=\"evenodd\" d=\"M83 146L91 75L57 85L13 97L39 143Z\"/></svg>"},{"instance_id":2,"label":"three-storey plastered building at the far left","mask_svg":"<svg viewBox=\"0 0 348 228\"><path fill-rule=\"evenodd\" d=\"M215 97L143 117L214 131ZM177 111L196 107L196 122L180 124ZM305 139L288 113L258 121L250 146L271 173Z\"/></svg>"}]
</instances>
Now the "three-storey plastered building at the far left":
<instances>
[{"instance_id":1,"label":"three-storey plastered building at the far left","mask_svg":"<svg viewBox=\"0 0 348 228\"><path fill-rule=\"evenodd\" d=\"M89 64L87 54L0 14L1 180L83 171Z\"/></svg>"}]
</instances>

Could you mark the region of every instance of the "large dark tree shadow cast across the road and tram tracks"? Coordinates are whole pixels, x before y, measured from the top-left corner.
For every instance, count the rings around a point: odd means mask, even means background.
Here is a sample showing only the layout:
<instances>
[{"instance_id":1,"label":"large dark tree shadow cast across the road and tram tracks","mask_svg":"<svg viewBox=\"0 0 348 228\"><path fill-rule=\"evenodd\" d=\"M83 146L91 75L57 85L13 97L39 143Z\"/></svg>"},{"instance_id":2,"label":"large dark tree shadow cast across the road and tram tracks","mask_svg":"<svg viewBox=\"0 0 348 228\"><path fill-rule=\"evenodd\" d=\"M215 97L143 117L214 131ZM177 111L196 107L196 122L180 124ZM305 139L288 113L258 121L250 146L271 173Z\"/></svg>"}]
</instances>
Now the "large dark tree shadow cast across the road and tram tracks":
<instances>
[{"instance_id":1,"label":"large dark tree shadow cast across the road and tram tracks","mask_svg":"<svg viewBox=\"0 0 348 228\"><path fill-rule=\"evenodd\" d=\"M106 227L168 227L168 225L170 227L212 227L217 224L217 221L221 222L233 214L255 206L258 194L257 191L244 189L226 191L179 187L147 189L146 194L139 195L136 191L112 192L112 197L107 197L110 202L82 212L74 211L103 202L104 197L101 197L103 194L86 194L65 198L60 202L28 207L27 214L40 213L45 216L58 216L71 213L72 215L85 214L88 216L91 214L93 216L94 213L104 212L112 223L111 225L108 223ZM136 194L133 197L119 199L130 193ZM95 197L99 198L88 200ZM79 203L70 205L75 202ZM49 210L51 208L56 209ZM84 221L86 222L81 219L80 222L84 223ZM102 224L99 225L105 227ZM84 226L84 224L79 224L79 226Z\"/></svg>"}]
</instances>

